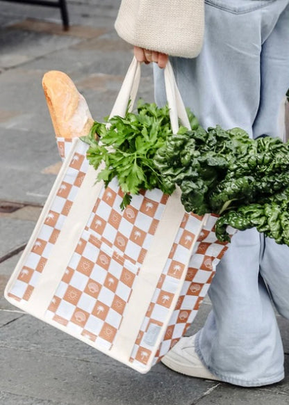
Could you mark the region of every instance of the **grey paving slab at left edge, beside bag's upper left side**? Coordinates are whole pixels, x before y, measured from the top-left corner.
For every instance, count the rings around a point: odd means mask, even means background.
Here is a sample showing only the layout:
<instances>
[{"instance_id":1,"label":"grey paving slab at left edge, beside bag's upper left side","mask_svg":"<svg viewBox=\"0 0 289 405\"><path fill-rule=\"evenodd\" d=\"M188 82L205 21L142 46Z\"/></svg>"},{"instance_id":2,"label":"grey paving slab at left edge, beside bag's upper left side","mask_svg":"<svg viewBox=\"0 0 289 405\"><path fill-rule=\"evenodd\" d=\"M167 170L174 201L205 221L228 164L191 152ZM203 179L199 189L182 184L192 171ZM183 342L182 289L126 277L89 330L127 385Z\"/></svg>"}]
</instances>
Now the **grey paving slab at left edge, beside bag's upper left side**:
<instances>
[{"instance_id":1,"label":"grey paving slab at left edge, beside bag's upper left side","mask_svg":"<svg viewBox=\"0 0 289 405\"><path fill-rule=\"evenodd\" d=\"M45 169L60 161L53 134L0 127L0 140L0 200L43 204L56 179Z\"/></svg>"}]
</instances>

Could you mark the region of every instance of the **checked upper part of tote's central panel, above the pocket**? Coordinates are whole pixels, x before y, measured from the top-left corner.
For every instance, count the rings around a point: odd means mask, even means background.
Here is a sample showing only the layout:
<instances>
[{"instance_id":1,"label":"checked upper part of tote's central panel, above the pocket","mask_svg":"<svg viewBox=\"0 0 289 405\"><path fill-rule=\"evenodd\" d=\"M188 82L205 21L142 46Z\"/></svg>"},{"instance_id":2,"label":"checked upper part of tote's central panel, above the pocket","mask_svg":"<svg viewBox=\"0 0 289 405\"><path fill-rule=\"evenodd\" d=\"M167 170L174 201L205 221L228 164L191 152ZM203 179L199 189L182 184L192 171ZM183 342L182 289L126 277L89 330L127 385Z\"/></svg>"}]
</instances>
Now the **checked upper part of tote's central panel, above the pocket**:
<instances>
[{"instance_id":1,"label":"checked upper part of tote's central panel, above the pocket","mask_svg":"<svg viewBox=\"0 0 289 405\"><path fill-rule=\"evenodd\" d=\"M102 189L85 230L99 237L124 258L142 264L165 209L167 196L159 190L133 196L131 205L119 208L123 193L117 180Z\"/></svg>"}]
</instances>

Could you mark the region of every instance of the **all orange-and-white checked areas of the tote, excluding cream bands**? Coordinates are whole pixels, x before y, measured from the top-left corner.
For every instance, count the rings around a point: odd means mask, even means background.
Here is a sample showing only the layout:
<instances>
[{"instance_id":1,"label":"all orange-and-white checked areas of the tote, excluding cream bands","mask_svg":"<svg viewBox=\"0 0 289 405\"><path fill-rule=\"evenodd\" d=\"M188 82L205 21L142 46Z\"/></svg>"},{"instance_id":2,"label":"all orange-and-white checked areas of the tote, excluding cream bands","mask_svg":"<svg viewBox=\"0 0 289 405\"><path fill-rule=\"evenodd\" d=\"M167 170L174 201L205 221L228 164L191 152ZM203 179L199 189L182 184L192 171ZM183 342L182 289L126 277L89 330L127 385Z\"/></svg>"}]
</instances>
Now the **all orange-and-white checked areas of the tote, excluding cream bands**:
<instances>
[{"instance_id":1,"label":"all orange-and-white checked areas of the tote, excluding cream bands","mask_svg":"<svg viewBox=\"0 0 289 405\"><path fill-rule=\"evenodd\" d=\"M63 158L71 146L70 141L58 139ZM87 173L87 148L85 143L77 144L35 244L8 293L17 301L28 301L40 279ZM101 189L46 312L47 319L65 326L67 332L106 350L115 342L131 292L138 283L139 269L154 241L167 202L167 196L157 189L144 191L133 196L131 205L122 212L119 207L122 197L117 180ZM195 214L183 216L131 352L131 364L138 368L146 367L152 356L156 363L183 335L197 314L215 266L226 250L213 232L216 217L209 216L199 234L201 221ZM189 257L196 238L193 255ZM170 319L168 323L167 319ZM160 333L163 341L154 355Z\"/></svg>"}]
</instances>

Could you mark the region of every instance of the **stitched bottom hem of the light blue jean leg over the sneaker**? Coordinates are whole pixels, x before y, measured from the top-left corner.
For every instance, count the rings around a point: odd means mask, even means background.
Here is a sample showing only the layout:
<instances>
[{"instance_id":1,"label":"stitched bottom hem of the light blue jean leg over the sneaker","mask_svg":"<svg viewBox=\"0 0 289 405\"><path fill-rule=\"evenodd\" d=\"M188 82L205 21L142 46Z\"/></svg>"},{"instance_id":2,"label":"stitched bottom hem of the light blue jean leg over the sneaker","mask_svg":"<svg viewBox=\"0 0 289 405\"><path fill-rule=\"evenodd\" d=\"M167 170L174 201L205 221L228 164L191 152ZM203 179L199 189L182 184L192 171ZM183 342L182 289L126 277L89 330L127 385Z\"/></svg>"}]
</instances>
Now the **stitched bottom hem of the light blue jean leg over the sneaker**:
<instances>
[{"instance_id":1,"label":"stitched bottom hem of the light blue jean leg over the sneaker","mask_svg":"<svg viewBox=\"0 0 289 405\"><path fill-rule=\"evenodd\" d=\"M279 374L274 374L274 376L271 376L269 379L256 379L256 380L247 380L247 379L239 379L233 376L224 376L223 374L220 374L217 372L217 370L214 370L213 367L210 367L208 364L206 364L206 361L204 360L204 356L201 353L201 349L199 347L199 336L201 331L199 331L195 337L195 351L197 355L199 356L199 359L201 360L201 363L206 367L209 372L211 372L214 376L216 376L220 381L223 383L230 383L233 386L241 386L241 387L261 387L261 386L269 386L274 383L279 383L279 381L283 380L285 377L284 371L279 372Z\"/></svg>"}]
</instances>

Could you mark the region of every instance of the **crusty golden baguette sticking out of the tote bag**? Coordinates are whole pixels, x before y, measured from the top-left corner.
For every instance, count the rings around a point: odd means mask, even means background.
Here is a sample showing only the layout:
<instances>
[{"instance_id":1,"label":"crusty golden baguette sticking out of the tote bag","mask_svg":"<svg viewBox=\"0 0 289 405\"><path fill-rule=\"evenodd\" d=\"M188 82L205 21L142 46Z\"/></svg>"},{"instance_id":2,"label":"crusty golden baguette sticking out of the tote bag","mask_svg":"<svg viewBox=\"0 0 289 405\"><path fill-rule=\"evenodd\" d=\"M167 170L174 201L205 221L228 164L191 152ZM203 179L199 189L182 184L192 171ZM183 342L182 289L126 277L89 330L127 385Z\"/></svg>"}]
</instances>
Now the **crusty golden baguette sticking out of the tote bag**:
<instances>
[{"instance_id":1,"label":"crusty golden baguette sticking out of the tote bag","mask_svg":"<svg viewBox=\"0 0 289 405\"><path fill-rule=\"evenodd\" d=\"M51 70L44 74L42 87L56 137L88 135L94 120L72 79L63 72Z\"/></svg>"}]
</instances>

